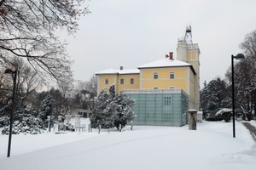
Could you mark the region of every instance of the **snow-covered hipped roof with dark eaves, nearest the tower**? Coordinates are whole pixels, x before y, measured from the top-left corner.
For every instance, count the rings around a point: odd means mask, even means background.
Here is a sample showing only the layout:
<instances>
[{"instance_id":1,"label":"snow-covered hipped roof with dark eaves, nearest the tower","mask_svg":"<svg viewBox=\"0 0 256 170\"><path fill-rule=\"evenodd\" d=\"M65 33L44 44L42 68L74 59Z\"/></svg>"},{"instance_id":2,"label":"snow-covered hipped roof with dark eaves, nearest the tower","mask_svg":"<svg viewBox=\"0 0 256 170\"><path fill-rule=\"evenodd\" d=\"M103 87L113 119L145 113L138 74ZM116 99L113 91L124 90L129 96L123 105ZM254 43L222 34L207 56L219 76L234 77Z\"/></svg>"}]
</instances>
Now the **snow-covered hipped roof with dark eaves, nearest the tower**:
<instances>
[{"instance_id":1,"label":"snow-covered hipped roof with dark eaves, nearest the tower","mask_svg":"<svg viewBox=\"0 0 256 170\"><path fill-rule=\"evenodd\" d=\"M138 69L182 67L182 66L189 66L191 68L191 70L194 72L194 74L196 74L193 66L190 65L189 63L183 62L178 59L169 59L169 58L159 59L159 60L150 62L148 64L141 65L138 67Z\"/></svg>"}]
</instances>

